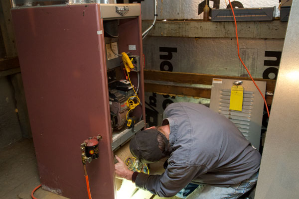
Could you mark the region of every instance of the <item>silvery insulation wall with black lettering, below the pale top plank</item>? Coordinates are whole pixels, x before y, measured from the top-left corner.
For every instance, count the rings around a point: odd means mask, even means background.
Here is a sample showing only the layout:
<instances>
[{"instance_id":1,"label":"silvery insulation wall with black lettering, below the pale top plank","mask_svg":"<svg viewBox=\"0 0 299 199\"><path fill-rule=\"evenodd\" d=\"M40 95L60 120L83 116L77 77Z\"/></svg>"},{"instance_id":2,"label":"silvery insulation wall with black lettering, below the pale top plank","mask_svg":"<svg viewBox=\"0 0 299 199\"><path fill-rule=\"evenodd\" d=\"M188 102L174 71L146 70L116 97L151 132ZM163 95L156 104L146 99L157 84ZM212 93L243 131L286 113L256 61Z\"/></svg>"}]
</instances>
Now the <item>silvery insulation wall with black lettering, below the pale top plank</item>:
<instances>
[{"instance_id":1,"label":"silvery insulation wall with black lettering, below the pale top plank","mask_svg":"<svg viewBox=\"0 0 299 199\"><path fill-rule=\"evenodd\" d=\"M241 58L254 78L277 78L284 39L240 38L239 43ZM249 77L238 58L235 38L148 36L143 45L146 70ZM208 105L210 102L150 92L145 95L149 126L161 124L162 113L169 103L190 101Z\"/></svg>"}]
</instances>

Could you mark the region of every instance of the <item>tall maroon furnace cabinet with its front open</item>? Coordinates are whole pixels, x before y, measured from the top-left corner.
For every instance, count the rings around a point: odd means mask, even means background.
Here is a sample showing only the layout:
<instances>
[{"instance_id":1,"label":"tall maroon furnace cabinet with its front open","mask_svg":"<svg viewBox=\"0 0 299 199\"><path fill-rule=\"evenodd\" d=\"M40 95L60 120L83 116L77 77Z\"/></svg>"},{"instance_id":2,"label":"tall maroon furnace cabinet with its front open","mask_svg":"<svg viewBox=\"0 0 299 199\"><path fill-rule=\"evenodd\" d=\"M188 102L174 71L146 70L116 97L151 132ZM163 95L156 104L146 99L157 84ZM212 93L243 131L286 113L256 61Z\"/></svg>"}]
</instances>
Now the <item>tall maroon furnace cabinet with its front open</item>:
<instances>
[{"instance_id":1,"label":"tall maroon furnace cabinet with its front open","mask_svg":"<svg viewBox=\"0 0 299 199\"><path fill-rule=\"evenodd\" d=\"M140 10L138 3L11 10L42 189L87 199L80 144L100 134L99 158L87 163L91 195L115 198L113 151L145 126ZM112 107L124 107L132 90L118 90L124 65L111 49L134 58L130 79L141 101L128 114L134 128L124 122L128 108Z\"/></svg>"}]
</instances>

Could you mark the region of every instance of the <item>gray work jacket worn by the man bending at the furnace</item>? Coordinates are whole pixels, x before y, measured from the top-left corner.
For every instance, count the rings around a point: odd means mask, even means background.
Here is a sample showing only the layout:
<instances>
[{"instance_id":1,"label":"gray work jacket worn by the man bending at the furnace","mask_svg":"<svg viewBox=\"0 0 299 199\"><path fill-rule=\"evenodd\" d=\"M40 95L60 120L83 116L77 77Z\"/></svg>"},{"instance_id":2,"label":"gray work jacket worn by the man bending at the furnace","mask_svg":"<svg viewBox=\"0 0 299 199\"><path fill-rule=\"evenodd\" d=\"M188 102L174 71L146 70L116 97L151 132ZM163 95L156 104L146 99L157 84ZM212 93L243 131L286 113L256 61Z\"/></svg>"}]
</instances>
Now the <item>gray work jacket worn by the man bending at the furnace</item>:
<instances>
[{"instance_id":1,"label":"gray work jacket worn by the man bending at the furnace","mask_svg":"<svg viewBox=\"0 0 299 199\"><path fill-rule=\"evenodd\" d=\"M180 102L168 105L164 118L174 151L162 175L140 173L137 187L171 197L190 182L228 187L259 170L260 153L225 116L202 104Z\"/></svg>"}]
</instances>

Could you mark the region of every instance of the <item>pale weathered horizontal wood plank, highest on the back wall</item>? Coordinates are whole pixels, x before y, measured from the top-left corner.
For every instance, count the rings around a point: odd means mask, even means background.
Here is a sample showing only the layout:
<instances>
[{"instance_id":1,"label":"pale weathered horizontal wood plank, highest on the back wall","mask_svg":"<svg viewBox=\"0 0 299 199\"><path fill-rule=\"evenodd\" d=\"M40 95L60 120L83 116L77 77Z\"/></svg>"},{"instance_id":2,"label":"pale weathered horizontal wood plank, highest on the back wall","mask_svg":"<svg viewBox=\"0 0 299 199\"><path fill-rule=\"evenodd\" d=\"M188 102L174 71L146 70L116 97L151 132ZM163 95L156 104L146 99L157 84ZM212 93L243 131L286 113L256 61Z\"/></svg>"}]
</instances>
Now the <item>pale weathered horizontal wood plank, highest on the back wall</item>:
<instances>
[{"instance_id":1,"label":"pale weathered horizontal wood plank, highest on the back wall","mask_svg":"<svg viewBox=\"0 0 299 199\"><path fill-rule=\"evenodd\" d=\"M143 30L151 23L143 21ZM284 39L288 23L280 20L238 21L237 26L239 38ZM235 25L231 21L168 20L156 21L149 36L234 38L236 33Z\"/></svg>"}]
</instances>

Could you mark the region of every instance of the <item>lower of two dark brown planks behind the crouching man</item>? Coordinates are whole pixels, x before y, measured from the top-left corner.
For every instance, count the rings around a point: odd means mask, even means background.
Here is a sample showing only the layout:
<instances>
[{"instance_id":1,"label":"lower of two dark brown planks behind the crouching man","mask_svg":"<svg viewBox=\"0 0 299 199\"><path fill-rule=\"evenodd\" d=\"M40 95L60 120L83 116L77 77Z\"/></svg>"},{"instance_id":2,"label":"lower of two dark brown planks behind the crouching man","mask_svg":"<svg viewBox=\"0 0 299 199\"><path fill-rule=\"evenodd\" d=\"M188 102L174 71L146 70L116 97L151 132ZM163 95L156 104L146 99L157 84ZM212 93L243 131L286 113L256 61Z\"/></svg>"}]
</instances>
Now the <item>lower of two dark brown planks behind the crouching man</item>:
<instances>
[{"instance_id":1,"label":"lower of two dark brown planks behind the crouching man","mask_svg":"<svg viewBox=\"0 0 299 199\"><path fill-rule=\"evenodd\" d=\"M159 93L163 95L174 95L174 96L188 96L195 98L211 98L211 89L205 88L191 88L183 86L173 85L161 85L155 83L145 83L145 91L152 93ZM268 105L272 104L273 96L266 96L266 102Z\"/></svg>"}]
</instances>

